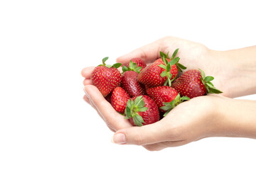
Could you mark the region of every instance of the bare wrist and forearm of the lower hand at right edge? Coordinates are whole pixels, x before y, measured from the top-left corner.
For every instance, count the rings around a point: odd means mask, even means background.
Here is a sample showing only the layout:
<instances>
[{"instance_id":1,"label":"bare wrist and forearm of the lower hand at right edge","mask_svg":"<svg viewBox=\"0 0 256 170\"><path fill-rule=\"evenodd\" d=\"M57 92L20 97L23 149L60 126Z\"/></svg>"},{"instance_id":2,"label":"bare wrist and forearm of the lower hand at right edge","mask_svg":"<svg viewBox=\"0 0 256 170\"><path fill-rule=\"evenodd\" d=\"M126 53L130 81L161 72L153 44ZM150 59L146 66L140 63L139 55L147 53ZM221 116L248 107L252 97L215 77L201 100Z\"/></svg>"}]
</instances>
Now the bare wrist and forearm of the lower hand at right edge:
<instances>
[{"instance_id":1,"label":"bare wrist and forearm of the lower hand at right edge","mask_svg":"<svg viewBox=\"0 0 256 170\"><path fill-rule=\"evenodd\" d=\"M213 136L256 138L256 101L218 99L218 120Z\"/></svg>"}]
</instances>

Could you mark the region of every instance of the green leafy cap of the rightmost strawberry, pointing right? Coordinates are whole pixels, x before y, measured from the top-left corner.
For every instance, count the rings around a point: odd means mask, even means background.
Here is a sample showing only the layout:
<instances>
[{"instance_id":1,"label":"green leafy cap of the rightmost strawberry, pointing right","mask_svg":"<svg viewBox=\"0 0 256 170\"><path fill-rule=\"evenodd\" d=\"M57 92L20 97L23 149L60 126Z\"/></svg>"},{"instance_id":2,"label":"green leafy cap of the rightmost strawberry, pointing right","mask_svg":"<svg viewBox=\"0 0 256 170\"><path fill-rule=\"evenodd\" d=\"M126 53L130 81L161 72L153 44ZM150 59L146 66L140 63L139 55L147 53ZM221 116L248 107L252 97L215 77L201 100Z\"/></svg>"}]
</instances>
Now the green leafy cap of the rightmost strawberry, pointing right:
<instances>
[{"instance_id":1,"label":"green leafy cap of the rightmost strawberry, pointing right","mask_svg":"<svg viewBox=\"0 0 256 170\"><path fill-rule=\"evenodd\" d=\"M213 86L213 83L210 82L214 79L214 77L211 77L211 76L206 77L206 74L205 74L205 72L203 72L203 70L199 69L199 71L201 72L201 81L206 86L207 94L221 94L221 93L223 93L219 89L216 89L215 86Z\"/></svg>"}]
</instances>

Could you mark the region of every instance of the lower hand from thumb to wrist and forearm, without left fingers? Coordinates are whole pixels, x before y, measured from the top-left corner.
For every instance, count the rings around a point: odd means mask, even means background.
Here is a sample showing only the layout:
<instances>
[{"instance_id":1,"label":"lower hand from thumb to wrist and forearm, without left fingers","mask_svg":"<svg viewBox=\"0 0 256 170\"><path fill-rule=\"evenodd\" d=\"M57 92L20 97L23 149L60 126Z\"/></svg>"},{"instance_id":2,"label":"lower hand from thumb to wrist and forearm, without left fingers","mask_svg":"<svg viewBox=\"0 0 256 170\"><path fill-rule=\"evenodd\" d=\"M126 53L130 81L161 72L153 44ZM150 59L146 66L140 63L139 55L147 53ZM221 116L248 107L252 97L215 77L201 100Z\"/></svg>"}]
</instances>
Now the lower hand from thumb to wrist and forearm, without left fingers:
<instances>
[{"instance_id":1,"label":"lower hand from thumb to wrist and forearm, without left fingers","mask_svg":"<svg viewBox=\"0 0 256 170\"><path fill-rule=\"evenodd\" d=\"M155 151L205 137L256 139L255 111L256 101L208 94L179 104L159 122L118 130L113 141Z\"/></svg>"}]
</instances>

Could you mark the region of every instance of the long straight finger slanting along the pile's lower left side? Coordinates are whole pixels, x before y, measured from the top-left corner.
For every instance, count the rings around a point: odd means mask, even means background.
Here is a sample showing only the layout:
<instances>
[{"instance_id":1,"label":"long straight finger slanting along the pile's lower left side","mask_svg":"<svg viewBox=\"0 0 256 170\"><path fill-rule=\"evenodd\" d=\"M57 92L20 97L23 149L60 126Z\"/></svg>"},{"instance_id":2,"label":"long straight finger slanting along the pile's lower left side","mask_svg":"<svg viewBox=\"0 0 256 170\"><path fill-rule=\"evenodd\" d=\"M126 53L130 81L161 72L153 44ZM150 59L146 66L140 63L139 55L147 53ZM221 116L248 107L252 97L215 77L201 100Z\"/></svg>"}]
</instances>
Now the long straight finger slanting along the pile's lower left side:
<instances>
[{"instance_id":1,"label":"long straight finger slanting along the pile's lower left side","mask_svg":"<svg viewBox=\"0 0 256 170\"><path fill-rule=\"evenodd\" d=\"M109 127L114 130L121 128L131 127L131 123L124 116L117 113L111 104L102 96L97 87L92 85L86 85L84 87L92 104L97 108L97 111L102 115L103 119Z\"/></svg>"}]
</instances>

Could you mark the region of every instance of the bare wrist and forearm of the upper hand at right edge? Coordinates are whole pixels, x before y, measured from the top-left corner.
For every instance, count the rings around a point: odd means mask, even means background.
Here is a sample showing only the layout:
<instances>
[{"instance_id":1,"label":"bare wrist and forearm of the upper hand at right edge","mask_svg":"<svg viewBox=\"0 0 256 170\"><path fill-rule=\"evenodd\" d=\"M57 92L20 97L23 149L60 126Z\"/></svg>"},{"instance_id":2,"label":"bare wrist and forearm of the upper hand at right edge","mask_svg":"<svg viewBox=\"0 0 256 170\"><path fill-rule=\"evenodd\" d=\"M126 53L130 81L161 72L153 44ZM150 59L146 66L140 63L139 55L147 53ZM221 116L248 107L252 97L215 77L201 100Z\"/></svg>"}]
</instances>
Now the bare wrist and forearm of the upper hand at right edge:
<instances>
[{"instance_id":1,"label":"bare wrist and forearm of the upper hand at right edge","mask_svg":"<svg viewBox=\"0 0 256 170\"><path fill-rule=\"evenodd\" d=\"M216 87L223 91L223 96L235 98L256 93L256 46L228 51L210 50L209 54L215 66L213 75L218 79Z\"/></svg>"}]
</instances>

